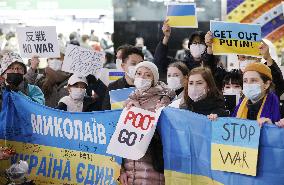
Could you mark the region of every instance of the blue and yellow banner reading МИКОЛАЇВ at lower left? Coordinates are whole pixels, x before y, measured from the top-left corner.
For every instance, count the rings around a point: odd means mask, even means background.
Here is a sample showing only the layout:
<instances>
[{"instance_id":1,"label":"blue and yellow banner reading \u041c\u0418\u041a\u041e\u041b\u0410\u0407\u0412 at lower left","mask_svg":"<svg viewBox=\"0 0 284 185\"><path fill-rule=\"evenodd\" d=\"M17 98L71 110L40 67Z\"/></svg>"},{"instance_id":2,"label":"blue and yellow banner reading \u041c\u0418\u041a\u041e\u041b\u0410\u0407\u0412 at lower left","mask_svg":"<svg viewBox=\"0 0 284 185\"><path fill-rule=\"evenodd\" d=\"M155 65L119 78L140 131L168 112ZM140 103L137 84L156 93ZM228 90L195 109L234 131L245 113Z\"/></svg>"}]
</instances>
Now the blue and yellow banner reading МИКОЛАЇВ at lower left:
<instances>
[{"instance_id":1,"label":"blue and yellow banner reading \u041c\u0418\u041a\u041e\u041b\u0410\u0407\u0412 at lower left","mask_svg":"<svg viewBox=\"0 0 284 185\"><path fill-rule=\"evenodd\" d=\"M117 184L121 158L106 154L121 111L70 113L5 92L0 146L17 154L1 171L26 160L37 185ZM0 184L5 184L3 173Z\"/></svg>"}]
</instances>

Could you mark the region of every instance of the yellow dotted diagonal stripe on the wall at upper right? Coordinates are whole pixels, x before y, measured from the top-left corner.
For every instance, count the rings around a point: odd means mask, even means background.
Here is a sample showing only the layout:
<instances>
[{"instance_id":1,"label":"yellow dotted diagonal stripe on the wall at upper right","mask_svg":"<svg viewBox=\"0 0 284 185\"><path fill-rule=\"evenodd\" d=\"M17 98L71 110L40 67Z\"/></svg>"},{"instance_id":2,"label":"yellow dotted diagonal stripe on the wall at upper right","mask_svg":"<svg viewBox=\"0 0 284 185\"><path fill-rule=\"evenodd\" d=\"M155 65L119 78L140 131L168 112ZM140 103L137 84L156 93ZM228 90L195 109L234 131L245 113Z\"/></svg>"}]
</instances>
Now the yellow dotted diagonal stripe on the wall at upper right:
<instances>
[{"instance_id":1,"label":"yellow dotted diagonal stripe on the wall at upper right","mask_svg":"<svg viewBox=\"0 0 284 185\"><path fill-rule=\"evenodd\" d=\"M246 0L231 12L228 12L227 21L241 22L245 17L247 17L249 14L257 10L261 5L265 4L268 1L269 0L257 0L252 2L251 0Z\"/></svg>"}]
</instances>

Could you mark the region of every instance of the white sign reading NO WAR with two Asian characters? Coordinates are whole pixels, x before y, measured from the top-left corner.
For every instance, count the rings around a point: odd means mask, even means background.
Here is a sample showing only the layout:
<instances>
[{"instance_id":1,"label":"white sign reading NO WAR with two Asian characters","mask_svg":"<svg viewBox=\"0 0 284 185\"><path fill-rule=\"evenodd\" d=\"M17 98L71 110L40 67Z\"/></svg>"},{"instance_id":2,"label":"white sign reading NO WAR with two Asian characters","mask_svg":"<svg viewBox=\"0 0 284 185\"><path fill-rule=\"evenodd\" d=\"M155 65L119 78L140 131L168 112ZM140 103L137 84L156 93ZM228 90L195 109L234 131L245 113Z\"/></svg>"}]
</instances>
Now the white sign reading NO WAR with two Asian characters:
<instances>
[{"instance_id":1,"label":"white sign reading NO WAR with two Asian characters","mask_svg":"<svg viewBox=\"0 0 284 185\"><path fill-rule=\"evenodd\" d=\"M22 57L60 57L55 26L17 27L16 31Z\"/></svg>"}]
</instances>

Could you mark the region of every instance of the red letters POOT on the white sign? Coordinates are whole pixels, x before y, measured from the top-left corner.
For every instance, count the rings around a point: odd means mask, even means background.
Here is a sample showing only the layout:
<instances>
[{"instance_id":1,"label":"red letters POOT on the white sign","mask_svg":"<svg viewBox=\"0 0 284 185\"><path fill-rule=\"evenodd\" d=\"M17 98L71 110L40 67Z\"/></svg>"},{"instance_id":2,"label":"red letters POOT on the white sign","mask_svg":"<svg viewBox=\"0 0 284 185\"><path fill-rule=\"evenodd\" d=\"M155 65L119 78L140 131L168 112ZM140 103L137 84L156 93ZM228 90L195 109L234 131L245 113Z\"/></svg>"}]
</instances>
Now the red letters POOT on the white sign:
<instances>
[{"instance_id":1,"label":"red letters POOT on the white sign","mask_svg":"<svg viewBox=\"0 0 284 185\"><path fill-rule=\"evenodd\" d=\"M140 128L141 130L148 130L154 125L155 117L150 115L143 115L141 113L135 114L133 111L129 111L124 119L124 124L132 120L132 125L135 128Z\"/></svg>"}]
</instances>

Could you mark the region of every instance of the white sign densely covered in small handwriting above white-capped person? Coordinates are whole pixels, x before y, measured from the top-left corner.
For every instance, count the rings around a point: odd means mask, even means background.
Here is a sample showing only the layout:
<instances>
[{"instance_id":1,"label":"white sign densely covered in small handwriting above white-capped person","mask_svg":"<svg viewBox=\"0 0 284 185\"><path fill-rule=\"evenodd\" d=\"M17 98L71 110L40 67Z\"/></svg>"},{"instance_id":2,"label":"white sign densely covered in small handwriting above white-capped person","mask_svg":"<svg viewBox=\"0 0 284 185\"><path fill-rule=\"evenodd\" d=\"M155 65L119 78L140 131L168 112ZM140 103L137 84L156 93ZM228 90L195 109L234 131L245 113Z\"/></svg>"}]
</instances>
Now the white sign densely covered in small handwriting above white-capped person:
<instances>
[{"instance_id":1,"label":"white sign densely covered in small handwriting above white-capped person","mask_svg":"<svg viewBox=\"0 0 284 185\"><path fill-rule=\"evenodd\" d=\"M105 60L104 52L68 44L62 65L62 71L77 73L83 76L89 74L99 76Z\"/></svg>"}]
</instances>

